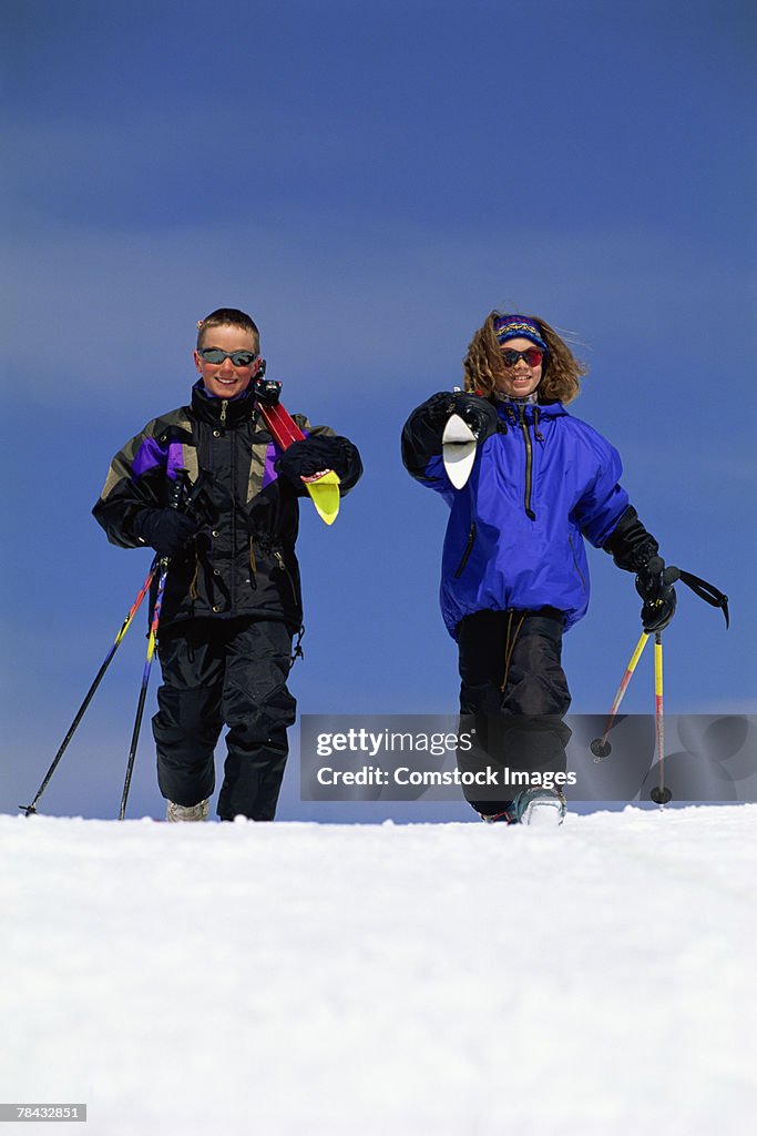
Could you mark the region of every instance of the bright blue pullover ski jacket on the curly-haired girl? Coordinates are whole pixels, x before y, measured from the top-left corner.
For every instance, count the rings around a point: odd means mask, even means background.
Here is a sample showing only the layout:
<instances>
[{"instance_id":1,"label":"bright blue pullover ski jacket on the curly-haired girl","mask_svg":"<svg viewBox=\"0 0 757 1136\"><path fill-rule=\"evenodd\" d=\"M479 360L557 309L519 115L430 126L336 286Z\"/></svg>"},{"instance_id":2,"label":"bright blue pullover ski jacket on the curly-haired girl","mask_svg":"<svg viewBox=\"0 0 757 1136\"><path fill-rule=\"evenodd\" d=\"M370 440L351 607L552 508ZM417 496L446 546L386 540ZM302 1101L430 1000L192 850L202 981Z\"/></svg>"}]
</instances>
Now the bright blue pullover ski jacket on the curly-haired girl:
<instances>
[{"instance_id":1,"label":"bright blue pullover ski jacket on the curly-haired girl","mask_svg":"<svg viewBox=\"0 0 757 1136\"><path fill-rule=\"evenodd\" d=\"M449 507L440 601L454 638L481 610L555 608L571 627L589 604L583 538L602 548L629 506L617 451L561 403L496 409L498 433L478 446L462 490L447 477L440 440L429 453L428 429L414 428L422 407L403 433L405 466Z\"/></svg>"}]
</instances>

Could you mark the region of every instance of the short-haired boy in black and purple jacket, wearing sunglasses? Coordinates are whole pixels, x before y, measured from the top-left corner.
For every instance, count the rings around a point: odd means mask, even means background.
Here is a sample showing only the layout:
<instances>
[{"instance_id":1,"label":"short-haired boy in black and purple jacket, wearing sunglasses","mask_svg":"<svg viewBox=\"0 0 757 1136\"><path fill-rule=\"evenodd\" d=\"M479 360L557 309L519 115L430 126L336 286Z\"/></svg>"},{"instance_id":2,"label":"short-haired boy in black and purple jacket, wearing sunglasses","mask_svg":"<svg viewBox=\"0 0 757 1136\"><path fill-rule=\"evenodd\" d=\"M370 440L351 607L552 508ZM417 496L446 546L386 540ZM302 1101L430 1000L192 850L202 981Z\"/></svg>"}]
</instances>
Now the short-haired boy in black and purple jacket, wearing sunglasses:
<instances>
[{"instance_id":1,"label":"short-haired boy in black and purple jacket, wearing sunglasses","mask_svg":"<svg viewBox=\"0 0 757 1136\"><path fill-rule=\"evenodd\" d=\"M93 513L120 548L170 557L160 618L162 686L153 735L169 820L204 820L213 750L228 726L218 816L272 820L295 718L287 690L302 627L295 556L304 478L325 469L346 494L360 454L295 416L305 438L281 452L260 421L260 334L237 309L197 325L192 401L153 419L113 458ZM202 493L169 508L179 470Z\"/></svg>"}]
</instances>

